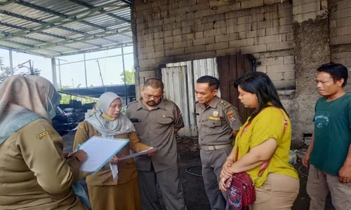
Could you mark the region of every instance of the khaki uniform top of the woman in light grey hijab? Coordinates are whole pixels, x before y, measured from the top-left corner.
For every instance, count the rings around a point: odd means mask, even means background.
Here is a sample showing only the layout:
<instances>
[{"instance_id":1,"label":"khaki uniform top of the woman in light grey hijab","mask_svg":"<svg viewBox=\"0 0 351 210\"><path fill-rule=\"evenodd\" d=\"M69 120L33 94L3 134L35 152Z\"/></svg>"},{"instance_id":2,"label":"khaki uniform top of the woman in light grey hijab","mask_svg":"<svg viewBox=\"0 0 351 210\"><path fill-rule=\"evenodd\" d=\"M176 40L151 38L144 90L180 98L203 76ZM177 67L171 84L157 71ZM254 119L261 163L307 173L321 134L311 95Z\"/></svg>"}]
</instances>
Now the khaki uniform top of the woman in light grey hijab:
<instances>
[{"instance_id":1,"label":"khaki uniform top of the woman in light grey hijab","mask_svg":"<svg viewBox=\"0 0 351 210\"><path fill-rule=\"evenodd\" d=\"M95 128L88 123L88 121L83 121L78 125L76 136L74 137L73 150L75 151L79 144L83 144L84 141L90 139L91 137L101 137L100 132L95 130ZM129 144L126 145L119 153L117 157L122 158L129 155L129 150L134 152L146 151L149 146L140 143L138 135L136 132L130 132L127 134L119 134L114 136L116 139L129 139ZM117 184L127 183L132 179L138 177L138 172L134 164L133 158L128 158L126 160L121 160L117 163L118 166L118 179L115 181L112 177L112 172L110 170L110 165L107 163L100 171L93 175L86 177L86 183L90 186L114 186ZM87 174L86 172L81 172L81 174Z\"/></svg>"}]
</instances>

